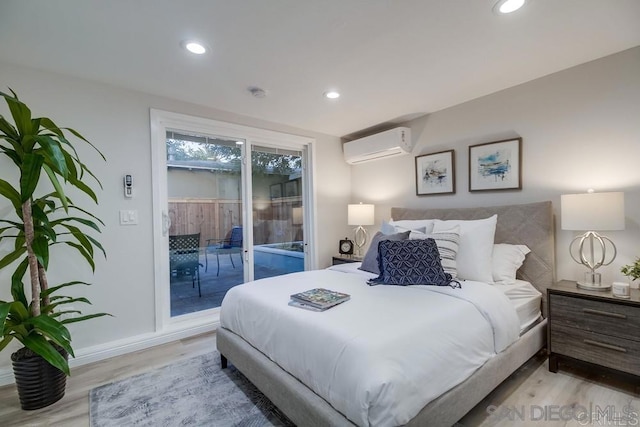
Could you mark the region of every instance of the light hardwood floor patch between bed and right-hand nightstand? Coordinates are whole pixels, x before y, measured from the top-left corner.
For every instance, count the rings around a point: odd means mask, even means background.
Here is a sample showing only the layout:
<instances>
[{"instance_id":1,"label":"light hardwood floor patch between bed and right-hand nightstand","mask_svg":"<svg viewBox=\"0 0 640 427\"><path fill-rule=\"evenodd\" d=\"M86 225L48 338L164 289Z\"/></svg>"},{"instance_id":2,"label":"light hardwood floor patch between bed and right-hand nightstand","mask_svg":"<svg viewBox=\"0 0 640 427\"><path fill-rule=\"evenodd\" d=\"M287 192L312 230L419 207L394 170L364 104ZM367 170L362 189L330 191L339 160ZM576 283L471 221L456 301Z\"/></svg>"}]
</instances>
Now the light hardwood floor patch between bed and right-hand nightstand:
<instances>
[{"instance_id":1,"label":"light hardwood floor patch between bed and right-hand nightstand","mask_svg":"<svg viewBox=\"0 0 640 427\"><path fill-rule=\"evenodd\" d=\"M582 419L579 417L582 408L596 414ZM610 415L604 414L607 410ZM632 414L629 422L617 419L625 410L636 414ZM464 427L638 426L640 380L586 364L562 362L554 374L549 372L545 352L541 352L458 424Z\"/></svg>"}]
</instances>

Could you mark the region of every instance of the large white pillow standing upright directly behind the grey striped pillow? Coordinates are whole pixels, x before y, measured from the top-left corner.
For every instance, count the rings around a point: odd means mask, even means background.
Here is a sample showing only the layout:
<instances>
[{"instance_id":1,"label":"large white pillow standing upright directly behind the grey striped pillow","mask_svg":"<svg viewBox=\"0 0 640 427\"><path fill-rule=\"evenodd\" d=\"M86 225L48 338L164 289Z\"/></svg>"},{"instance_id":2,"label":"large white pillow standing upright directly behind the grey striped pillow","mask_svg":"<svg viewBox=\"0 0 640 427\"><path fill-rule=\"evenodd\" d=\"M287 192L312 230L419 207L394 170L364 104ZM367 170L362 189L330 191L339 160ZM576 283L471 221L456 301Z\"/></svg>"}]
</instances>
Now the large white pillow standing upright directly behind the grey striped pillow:
<instances>
[{"instance_id":1,"label":"large white pillow standing upright directly behind the grey striped pillow","mask_svg":"<svg viewBox=\"0 0 640 427\"><path fill-rule=\"evenodd\" d=\"M434 232L460 226L460 247L456 262L459 278L493 283L493 240L497 220L498 215L471 221L435 220Z\"/></svg>"}]
</instances>

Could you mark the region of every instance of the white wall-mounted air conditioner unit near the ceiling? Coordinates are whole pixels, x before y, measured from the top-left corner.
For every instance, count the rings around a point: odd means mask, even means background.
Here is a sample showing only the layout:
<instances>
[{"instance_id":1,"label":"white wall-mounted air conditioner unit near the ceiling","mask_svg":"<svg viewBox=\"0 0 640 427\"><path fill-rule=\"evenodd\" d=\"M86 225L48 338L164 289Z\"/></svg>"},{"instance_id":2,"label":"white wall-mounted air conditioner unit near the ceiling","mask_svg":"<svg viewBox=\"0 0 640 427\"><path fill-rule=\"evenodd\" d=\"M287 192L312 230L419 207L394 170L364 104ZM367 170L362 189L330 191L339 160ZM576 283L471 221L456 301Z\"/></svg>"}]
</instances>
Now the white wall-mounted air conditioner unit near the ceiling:
<instances>
[{"instance_id":1,"label":"white wall-mounted air conditioner unit near the ceiling","mask_svg":"<svg viewBox=\"0 0 640 427\"><path fill-rule=\"evenodd\" d=\"M411 129L406 127L389 129L343 145L344 159L350 165L402 156L409 154L411 148Z\"/></svg>"}]
</instances>

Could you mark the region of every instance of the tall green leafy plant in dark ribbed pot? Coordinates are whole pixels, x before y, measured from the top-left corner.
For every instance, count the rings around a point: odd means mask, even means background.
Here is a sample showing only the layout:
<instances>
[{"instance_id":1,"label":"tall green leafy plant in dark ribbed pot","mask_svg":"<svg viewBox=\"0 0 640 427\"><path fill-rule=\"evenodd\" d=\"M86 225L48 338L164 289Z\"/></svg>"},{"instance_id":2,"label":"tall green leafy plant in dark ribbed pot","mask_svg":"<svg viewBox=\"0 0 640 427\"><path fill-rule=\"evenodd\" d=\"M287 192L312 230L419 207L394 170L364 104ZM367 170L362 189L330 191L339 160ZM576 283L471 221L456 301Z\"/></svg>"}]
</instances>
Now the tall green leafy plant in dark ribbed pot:
<instances>
[{"instance_id":1,"label":"tall green leafy plant in dark ribbed pot","mask_svg":"<svg viewBox=\"0 0 640 427\"><path fill-rule=\"evenodd\" d=\"M16 385L22 408L37 409L64 395L70 374L67 357L73 356L65 325L107 315L82 315L70 309L70 304L90 304L89 300L60 295L63 289L88 283L52 286L47 277L54 247L71 248L92 270L96 250L106 256L91 235L99 233L99 224L104 223L67 195L73 188L97 204L88 182L101 187L67 135L88 144L103 160L104 156L75 130L59 127L46 117L32 117L15 92L0 92L0 96L13 121L0 115L0 160L4 161L0 202L10 208L9 214L0 217L0 270L16 266L11 275L11 298L0 300L0 351L13 339L24 346L11 355Z\"/></svg>"}]
</instances>

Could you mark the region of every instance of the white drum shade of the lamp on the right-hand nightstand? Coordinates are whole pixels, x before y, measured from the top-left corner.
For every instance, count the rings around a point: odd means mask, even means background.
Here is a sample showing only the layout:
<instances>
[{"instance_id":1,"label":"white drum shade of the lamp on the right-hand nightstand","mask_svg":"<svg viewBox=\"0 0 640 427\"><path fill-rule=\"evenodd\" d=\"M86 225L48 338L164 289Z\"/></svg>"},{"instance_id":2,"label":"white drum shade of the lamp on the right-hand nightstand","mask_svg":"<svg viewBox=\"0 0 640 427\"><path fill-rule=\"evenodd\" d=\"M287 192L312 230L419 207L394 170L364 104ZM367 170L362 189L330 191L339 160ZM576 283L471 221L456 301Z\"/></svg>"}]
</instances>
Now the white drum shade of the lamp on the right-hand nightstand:
<instances>
[{"instance_id":1,"label":"white drum shade of the lamp on the right-hand nightstand","mask_svg":"<svg viewBox=\"0 0 640 427\"><path fill-rule=\"evenodd\" d=\"M565 194L560 197L563 230L624 230L624 193Z\"/></svg>"}]
</instances>

